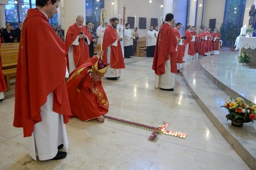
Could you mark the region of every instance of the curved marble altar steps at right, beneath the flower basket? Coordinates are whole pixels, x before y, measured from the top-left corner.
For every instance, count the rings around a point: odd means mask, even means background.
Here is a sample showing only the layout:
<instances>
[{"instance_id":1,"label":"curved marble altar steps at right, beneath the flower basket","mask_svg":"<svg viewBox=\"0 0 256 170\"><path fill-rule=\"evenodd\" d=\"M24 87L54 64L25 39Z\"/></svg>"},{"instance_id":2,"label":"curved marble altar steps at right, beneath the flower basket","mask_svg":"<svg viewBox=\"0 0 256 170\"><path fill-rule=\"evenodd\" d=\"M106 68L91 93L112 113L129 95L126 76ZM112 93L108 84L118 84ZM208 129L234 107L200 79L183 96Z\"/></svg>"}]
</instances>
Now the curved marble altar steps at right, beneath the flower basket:
<instances>
[{"instance_id":1,"label":"curved marble altar steps at right, beneath the flower basket","mask_svg":"<svg viewBox=\"0 0 256 170\"><path fill-rule=\"evenodd\" d=\"M216 56L187 59L183 65L183 79L195 101L218 131L248 166L255 169L256 123L246 123L243 127L232 126L231 121L227 121L225 117L226 109L220 108L224 102L230 101L229 96L232 98L243 97L218 79L218 76L226 76L225 79L232 77L225 72L227 72L226 69L229 69L227 67L236 67L235 55L236 52L220 52L220 55ZM230 65L226 63L230 63ZM235 65L232 66L232 63ZM239 77L237 78L239 79ZM228 81L232 84L234 80L231 78Z\"/></svg>"}]
</instances>

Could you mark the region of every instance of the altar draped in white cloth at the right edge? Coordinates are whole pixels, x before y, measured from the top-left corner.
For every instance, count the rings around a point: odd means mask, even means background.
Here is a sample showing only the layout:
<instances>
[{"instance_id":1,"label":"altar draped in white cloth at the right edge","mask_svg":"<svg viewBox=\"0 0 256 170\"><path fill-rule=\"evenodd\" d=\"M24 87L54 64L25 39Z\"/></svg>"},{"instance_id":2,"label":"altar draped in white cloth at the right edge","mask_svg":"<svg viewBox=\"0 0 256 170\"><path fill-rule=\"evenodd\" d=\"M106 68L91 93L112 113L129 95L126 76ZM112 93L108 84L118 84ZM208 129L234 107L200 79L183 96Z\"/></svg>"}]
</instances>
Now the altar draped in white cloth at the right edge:
<instances>
[{"instance_id":1,"label":"altar draped in white cloth at the right edge","mask_svg":"<svg viewBox=\"0 0 256 170\"><path fill-rule=\"evenodd\" d=\"M256 66L256 37L238 36L235 42L236 50L239 49L239 56L242 52L252 55L252 62L248 65Z\"/></svg>"}]
</instances>

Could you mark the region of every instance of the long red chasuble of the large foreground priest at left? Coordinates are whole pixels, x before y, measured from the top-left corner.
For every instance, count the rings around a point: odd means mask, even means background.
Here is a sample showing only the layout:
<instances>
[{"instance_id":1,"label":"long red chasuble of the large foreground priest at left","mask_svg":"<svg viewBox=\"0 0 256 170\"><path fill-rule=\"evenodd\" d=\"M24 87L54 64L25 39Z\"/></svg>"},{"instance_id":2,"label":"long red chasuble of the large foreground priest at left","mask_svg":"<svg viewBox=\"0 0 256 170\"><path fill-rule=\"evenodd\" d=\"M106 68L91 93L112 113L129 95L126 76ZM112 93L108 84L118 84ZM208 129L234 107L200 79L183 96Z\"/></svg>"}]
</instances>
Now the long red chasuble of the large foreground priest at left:
<instances>
[{"instance_id":1,"label":"long red chasuble of the large foreground priest at left","mask_svg":"<svg viewBox=\"0 0 256 170\"><path fill-rule=\"evenodd\" d=\"M37 26L35 31L34 26ZM24 137L31 136L34 124L41 121L40 107L54 92L53 111L71 115L65 85L67 61L64 42L37 9L28 10L20 37L15 82L13 126L23 127Z\"/></svg>"}]
</instances>

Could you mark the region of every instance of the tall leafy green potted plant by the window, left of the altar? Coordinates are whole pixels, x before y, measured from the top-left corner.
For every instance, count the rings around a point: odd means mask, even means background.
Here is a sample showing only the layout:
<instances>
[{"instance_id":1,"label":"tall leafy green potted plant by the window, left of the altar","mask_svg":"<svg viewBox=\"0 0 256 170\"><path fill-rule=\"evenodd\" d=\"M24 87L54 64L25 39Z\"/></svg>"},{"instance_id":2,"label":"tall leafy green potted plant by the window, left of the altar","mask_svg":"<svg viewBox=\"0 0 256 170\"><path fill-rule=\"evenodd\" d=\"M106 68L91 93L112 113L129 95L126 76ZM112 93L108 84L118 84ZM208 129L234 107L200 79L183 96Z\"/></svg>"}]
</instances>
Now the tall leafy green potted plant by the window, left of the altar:
<instances>
[{"instance_id":1,"label":"tall leafy green potted plant by the window, left of the altar","mask_svg":"<svg viewBox=\"0 0 256 170\"><path fill-rule=\"evenodd\" d=\"M227 24L225 28L225 41L231 42L230 51L234 51L234 44L236 41L236 37L239 36L240 33L240 25L239 24Z\"/></svg>"}]
</instances>

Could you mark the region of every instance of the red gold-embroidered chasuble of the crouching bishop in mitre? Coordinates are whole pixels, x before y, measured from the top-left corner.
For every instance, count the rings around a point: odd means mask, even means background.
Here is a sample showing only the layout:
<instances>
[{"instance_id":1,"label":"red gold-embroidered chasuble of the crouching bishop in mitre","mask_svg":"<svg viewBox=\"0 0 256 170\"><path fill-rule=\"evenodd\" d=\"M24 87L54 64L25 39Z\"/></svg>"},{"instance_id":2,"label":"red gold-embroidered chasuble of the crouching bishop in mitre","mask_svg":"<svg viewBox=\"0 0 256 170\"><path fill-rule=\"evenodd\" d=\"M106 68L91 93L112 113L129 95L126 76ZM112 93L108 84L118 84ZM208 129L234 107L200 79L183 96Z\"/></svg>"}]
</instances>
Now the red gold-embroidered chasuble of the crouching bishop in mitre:
<instances>
[{"instance_id":1,"label":"red gold-embroidered chasuble of the crouching bishop in mitre","mask_svg":"<svg viewBox=\"0 0 256 170\"><path fill-rule=\"evenodd\" d=\"M86 63L75 69L67 80L67 93L71 107L71 117L88 121L108 113L109 103L101 82L93 82L88 69L97 62L98 57L89 58ZM77 87L85 78L81 91Z\"/></svg>"}]
</instances>

